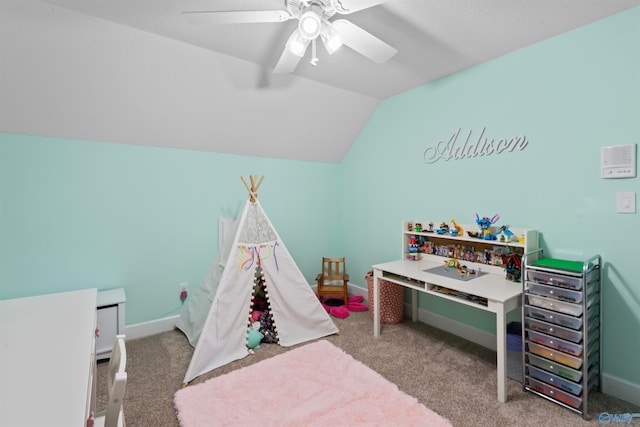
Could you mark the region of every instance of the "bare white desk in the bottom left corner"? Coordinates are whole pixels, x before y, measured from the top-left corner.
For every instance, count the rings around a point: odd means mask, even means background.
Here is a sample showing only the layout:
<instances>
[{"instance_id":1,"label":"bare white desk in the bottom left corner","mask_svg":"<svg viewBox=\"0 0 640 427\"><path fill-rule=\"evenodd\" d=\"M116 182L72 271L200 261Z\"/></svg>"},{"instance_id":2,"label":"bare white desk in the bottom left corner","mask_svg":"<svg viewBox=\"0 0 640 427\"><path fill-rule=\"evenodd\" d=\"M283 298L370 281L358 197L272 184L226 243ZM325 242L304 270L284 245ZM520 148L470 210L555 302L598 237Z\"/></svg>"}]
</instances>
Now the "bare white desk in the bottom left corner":
<instances>
[{"instance_id":1,"label":"bare white desk in the bottom left corner","mask_svg":"<svg viewBox=\"0 0 640 427\"><path fill-rule=\"evenodd\" d=\"M0 301L0 426L86 425L96 299L87 289Z\"/></svg>"}]
</instances>

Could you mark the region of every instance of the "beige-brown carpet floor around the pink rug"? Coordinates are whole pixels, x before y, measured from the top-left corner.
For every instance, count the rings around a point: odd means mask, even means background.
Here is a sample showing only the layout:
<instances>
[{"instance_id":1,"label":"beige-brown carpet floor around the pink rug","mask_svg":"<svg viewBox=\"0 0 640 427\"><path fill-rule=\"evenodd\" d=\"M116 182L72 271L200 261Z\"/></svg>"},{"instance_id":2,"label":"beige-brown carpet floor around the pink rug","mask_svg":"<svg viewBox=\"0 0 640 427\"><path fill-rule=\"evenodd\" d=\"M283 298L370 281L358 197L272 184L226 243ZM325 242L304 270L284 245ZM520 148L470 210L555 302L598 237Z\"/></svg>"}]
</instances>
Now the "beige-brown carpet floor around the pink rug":
<instances>
[{"instance_id":1,"label":"beige-brown carpet floor around the pink rug","mask_svg":"<svg viewBox=\"0 0 640 427\"><path fill-rule=\"evenodd\" d=\"M369 312L334 319L340 335L327 340L361 361L400 390L449 419L454 426L596 426L601 412L640 413L640 407L592 392L590 421L529 392L509 380L508 402L497 401L496 353L464 339L405 320L383 326L373 338ZM288 349L265 344L256 354L216 369L197 384ZM124 410L128 427L177 427L173 396L180 389L193 348L179 331L127 342L129 380ZM98 408L105 402L106 363L99 368ZM259 425L259 424L257 424ZM634 419L631 425L640 425Z\"/></svg>"}]
</instances>

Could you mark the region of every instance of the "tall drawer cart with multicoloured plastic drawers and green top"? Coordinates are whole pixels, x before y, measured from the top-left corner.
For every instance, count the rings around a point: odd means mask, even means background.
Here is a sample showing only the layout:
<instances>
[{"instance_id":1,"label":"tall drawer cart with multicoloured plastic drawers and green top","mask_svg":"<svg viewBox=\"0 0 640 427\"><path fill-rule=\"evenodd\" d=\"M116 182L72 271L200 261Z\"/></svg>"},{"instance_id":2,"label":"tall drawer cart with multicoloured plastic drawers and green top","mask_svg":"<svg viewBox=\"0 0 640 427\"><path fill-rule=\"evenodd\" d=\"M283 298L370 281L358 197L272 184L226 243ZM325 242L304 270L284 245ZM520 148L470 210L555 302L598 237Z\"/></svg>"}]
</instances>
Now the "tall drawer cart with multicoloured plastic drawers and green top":
<instances>
[{"instance_id":1,"label":"tall drawer cart with multicoloured plastic drawers and green top","mask_svg":"<svg viewBox=\"0 0 640 427\"><path fill-rule=\"evenodd\" d=\"M522 265L524 389L586 420L589 391L602 384L602 259L545 258L538 249Z\"/></svg>"}]
</instances>

